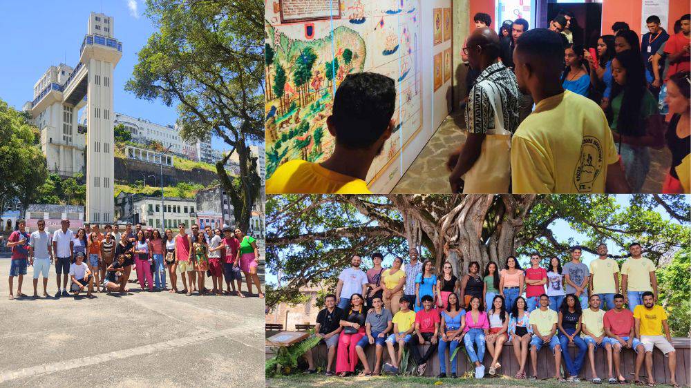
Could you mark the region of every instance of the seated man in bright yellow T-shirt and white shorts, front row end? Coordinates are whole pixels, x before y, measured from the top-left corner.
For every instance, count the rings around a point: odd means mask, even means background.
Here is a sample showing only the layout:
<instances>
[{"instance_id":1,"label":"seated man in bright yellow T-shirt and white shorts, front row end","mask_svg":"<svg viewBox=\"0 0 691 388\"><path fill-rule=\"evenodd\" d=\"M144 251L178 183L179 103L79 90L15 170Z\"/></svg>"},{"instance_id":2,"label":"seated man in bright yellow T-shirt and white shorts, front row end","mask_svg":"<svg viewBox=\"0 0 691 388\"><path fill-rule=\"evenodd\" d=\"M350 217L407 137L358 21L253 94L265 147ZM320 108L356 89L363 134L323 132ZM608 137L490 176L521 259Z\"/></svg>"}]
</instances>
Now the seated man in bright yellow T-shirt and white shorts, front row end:
<instances>
[{"instance_id":1,"label":"seated man in bright yellow T-shirt and white shorts, front row end","mask_svg":"<svg viewBox=\"0 0 691 388\"><path fill-rule=\"evenodd\" d=\"M667 313L662 306L655 306L654 295L650 291L643 293L643 304L639 304L634 309L634 320L636 338L641 340L645 347L645 370L648 376L648 385L655 385L655 376L652 373L652 349L656 347L667 356L668 367L670 367L670 383L674 387L676 384L676 351L672 347L672 336L670 336L670 325L667 323ZM665 335L662 335L662 329Z\"/></svg>"}]
</instances>

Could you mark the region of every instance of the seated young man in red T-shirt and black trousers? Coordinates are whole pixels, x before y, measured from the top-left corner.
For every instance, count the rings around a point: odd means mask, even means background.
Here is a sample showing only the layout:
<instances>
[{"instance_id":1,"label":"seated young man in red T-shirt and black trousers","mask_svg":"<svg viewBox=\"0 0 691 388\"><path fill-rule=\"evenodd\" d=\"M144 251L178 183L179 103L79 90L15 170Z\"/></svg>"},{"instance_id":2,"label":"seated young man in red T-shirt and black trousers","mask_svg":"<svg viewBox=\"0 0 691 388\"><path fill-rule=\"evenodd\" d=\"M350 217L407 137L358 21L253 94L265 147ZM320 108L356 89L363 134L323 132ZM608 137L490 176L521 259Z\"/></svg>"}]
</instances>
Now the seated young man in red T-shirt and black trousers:
<instances>
[{"instance_id":1,"label":"seated young man in red T-shirt and black trousers","mask_svg":"<svg viewBox=\"0 0 691 388\"><path fill-rule=\"evenodd\" d=\"M439 311L433 309L434 299L430 295L422 297L423 310L415 313L415 334L410 338L408 348L410 348L410 355L417 366L417 373L422 376L427 368L427 360L437 353L437 346L439 345L439 325L442 324L442 319L439 318ZM424 345L426 341L430 342L430 347L427 348L424 356L420 355L420 350L417 345Z\"/></svg>"}]
</instances>

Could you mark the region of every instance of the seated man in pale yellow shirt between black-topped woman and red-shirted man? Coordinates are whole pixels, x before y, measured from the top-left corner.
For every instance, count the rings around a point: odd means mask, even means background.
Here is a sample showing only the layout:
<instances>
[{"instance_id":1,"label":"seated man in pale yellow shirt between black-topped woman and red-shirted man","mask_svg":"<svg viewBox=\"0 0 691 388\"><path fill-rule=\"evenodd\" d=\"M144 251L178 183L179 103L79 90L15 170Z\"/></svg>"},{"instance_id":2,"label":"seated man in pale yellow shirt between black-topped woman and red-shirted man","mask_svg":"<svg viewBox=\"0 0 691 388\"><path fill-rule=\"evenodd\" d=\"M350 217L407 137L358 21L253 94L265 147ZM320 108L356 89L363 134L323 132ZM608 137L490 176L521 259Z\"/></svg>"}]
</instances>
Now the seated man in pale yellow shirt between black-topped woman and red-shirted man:
<instances>
[{"instance_id":1,"label":"seated man in pale yellow shirt between black-topped woman and red-shirted man","mask_svg":"<svg viewBox=\"0 0 691 388\"><path fill-rule=\"evenodd\" d=\"M583 338L588 345L588 359L590 360L590 371L593 375L593 384L602 384L603 380L598 377L595 370L595 351L598 347L604 348L607 352L609 361L609 384L617 384L618 381L612 374L612 344L607 341L605 336L605 311L600 310L600 295L591 294L589 307L583 310L580 317L580 338Z\"/></svg>"}]
</instances>

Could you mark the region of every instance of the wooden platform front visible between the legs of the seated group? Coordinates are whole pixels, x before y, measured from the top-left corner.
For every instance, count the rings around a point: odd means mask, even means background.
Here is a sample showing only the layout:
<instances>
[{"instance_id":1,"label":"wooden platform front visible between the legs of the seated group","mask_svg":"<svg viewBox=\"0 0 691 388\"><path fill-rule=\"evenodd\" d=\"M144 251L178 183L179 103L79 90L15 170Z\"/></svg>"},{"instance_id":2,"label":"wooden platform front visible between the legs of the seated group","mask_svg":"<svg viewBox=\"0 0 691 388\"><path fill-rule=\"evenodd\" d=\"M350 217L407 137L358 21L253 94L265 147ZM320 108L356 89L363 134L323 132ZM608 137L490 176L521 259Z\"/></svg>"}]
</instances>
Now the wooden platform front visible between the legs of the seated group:
<instances>
[{"instance_id":1,"label":"wooden platform front visible between the legs of the seated group","mask_svg":"<svg viewBox=\"0 0 691 388\"><path fill-rule=\"evenodd\" d=\"M691 385L691 339L690 338L672 338L672 345L676 349L676 381L679 385ZM429 345L422 345L421 353L424 353ZM513 355L513 345L511 343L505 344L502 350L502 355L500 356L500 364L502 368L499 369L498 374L506 376L515 376L518 371L518 362ZM576 356L578 348L574 345L569 346L569 352L572 357ZM375 347L369 346L366 349L367 358L370 361L370 365L375 359ZM267 356L270 356L267 354ZM636 360L636 353L632 349L623 349L621 360L622 374L625 378L632 381L634 377L634 365ZM317 359L319 358L319 360ZM473 371L474 365L466 358L465 353L457 354L457 374L462 375L466 371ZM315 351L315 362L316 365L324 365L326 360L326 345L321 344ZM388 351L384 349L384 362L388 362ZM439 358L437 353L435 353L430 364L425 371L425 376L437 376L439 374ZM448 367L448 356L446 357L447 367L446 372L451 374L451 368ZM485 351L484 365L489 365L491 362L491 357L489 352ZM335 362L334 362L335 364ZM335 366L335 365L334 365ZM361 367L361 366L360 366ZM528 376L532 373L532 366L530 361L530 354L528 355L526 373ZM596 351L595 368L598 372L598 377L607 381L607 356L605 355L604 349L598 349ZM565 370L565 365L562 360L562 371ZM667 358L663 356L661 351L655 349L653 351L653 373L655 374L655 380L658 383L668 383L670 382L670 371L667 367ZM554 356L552 355L549 347L543 347L538 353L538 378L551 378L554 376ZM580 378L590 380L592 378L590 372L590 364L588 357L585 357L583 362L583 369L580 370ZM645 363L641 367L641 379L645 379L647 376L645 372ZM616 376L615 376L616 378Z\"/></svg>"}]
</instances>

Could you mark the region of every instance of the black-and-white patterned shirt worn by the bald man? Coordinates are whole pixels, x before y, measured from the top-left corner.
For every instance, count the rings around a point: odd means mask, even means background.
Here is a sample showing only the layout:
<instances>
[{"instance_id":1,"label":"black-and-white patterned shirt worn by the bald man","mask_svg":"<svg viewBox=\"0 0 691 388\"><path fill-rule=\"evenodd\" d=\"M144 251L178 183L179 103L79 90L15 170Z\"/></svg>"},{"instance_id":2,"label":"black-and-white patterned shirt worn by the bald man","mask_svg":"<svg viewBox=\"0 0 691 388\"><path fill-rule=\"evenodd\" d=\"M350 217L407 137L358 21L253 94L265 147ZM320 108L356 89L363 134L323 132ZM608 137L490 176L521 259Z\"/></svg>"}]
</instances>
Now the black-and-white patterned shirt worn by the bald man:
<instances>
[{"instance_id":1,"label":"black-and-white patterned shirt worn by the bald man","mask_svg":"<svg viewBox=\"0 0 691 388\"><path fill-rule=\"evenodd\" d=\"M516 76L511 69L501 62L492 64L484 69L477 77L475 85L468 95L466 104L466 128L468 133L487 133L487 130L494 128L494 110L489 103L489 96L486 90L480 86L484 80L491 81L498 90L502 100L502 113L504 113L504 129L514 133L518 128L518 110L521 93L518 90ZM499 108L499 107L498 107Z\"/></svg>"}]
</instances>

